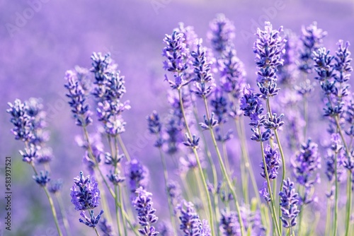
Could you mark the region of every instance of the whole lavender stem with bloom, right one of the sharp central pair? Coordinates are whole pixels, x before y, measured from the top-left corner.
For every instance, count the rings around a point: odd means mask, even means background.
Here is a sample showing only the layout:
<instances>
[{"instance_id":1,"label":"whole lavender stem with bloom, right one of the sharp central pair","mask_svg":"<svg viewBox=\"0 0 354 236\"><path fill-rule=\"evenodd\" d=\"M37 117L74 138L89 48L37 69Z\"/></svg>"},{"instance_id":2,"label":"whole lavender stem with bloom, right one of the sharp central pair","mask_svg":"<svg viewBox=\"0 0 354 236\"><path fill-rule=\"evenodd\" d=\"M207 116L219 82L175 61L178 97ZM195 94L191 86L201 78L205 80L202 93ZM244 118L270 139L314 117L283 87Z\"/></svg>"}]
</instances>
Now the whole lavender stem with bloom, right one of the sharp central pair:
<instances>
[{"instance_id":1,"label":"whole lavender stem with bloom, right one of the sharp central pair","mask_svg":"<svg viewBox=\"0 0 354 236\"><path fill-rule=\"evenodd\" d=\"M214 119L214 114L210 114L209 112L209 108L207 105L207 96L212 93L212 88L214 87L213 84L214 79L212 78L212 74L210 73L210 62L207 61L206 52L205 49L202 47L201 43L202 40L200 40L198 43L197 52L192 52L191 54L192 57L195 59L195 61L193 62L194 73L195 73L195 78L193 79L193 81L195 83L195 90L193 90L193 92L202 98L205 105L205 112L206 112L205 122L200 123L200 126L202 126L203 129L210 130L210 135L212 136L212 142L214 144L215 151L217 152L217 158L219 160L219 165L222 170L222 175L227 181L229 190L232 192L234 203L236 205L236 211L239 213L239 216L241 216L241 211L239 207L239 201L237 200L236 191L234 189L232 181L229 179L229 175L224 165L224 160L222 160L222 155L217 146L217 141L213 131L213 127L217 126L218 121L217 119ZM244 235L245 232L244 223L242 222L241 218L239 218L239 223L241 227L241 235Z\"/></svg>"}]
</instances>

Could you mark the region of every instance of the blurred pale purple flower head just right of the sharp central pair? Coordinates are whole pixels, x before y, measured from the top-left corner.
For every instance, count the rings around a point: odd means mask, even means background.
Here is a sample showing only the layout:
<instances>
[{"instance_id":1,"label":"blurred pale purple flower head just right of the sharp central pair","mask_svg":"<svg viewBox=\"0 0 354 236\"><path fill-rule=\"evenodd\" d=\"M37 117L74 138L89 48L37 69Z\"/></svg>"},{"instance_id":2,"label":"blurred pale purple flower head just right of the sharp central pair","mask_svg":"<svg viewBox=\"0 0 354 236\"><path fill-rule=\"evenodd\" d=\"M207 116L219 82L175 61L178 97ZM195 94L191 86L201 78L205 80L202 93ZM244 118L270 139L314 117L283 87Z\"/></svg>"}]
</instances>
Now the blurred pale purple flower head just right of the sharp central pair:
<instances>
[{"instance_id":1,"label":"blurred pale purple flower head just right of the sharp central pair","mask_svg":"<svg viewBox=\"0 0 354 236\"><path fill-rule=\"evenodd\" d=\"M239 100L246 85L246 70L242 61L236 57L236 50L227 48L219 60L220 83L222 90Z\"/></svg>"}]
</instances>

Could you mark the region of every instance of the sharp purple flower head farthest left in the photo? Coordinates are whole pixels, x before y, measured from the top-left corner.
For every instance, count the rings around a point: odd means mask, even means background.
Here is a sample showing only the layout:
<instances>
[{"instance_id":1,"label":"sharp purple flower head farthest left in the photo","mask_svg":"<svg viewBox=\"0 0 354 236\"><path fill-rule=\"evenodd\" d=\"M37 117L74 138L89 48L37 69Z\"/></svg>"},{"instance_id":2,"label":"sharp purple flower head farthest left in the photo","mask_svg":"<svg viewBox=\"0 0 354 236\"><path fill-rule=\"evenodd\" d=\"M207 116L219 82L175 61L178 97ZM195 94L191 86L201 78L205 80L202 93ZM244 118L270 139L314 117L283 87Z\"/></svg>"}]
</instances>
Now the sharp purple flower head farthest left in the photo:
<instances>
[{"instance_id":1,"label":"sharp purple flower head farthest left in the photo","mask_svg":"<svg viewBox=\"0 0 354 236\"><path fill-rule=\"evenodd\" d=\"M25 109L25 104L21 100L16 99L13 104L8 102L7 113L11 115L10 122L15 126L11 129L12 134L15 135L16 140L23 142L30 142L34 138L34 124L33 117L31 117Z\"/></svg>"}]
</instances>

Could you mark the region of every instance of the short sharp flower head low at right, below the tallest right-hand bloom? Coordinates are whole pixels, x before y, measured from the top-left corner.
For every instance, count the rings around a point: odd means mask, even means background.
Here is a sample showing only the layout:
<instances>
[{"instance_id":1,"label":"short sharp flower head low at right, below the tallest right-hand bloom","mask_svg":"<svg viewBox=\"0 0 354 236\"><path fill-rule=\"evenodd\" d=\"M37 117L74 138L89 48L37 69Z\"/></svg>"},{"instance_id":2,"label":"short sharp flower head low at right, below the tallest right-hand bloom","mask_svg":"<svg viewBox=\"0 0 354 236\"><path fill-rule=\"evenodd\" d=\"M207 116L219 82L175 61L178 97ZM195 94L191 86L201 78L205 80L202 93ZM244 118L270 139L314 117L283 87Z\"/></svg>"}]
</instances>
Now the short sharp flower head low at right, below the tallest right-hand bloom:
<instances>
[{"instance_id":1,"label":"short sharp flower head low at right, below the tallest right-hand bloom","mask_svg":"<svg viewBox=\"0 0 354 236\"><path fill-rule=\"evenodd\" d=\"M294 183L289 178L284 179L284 185L280 196L280 210L282 211L282 226L292 228L296 225L296 218L299 215L297 204L299 203L299 194L295 192Z\"/></svg>"}]
</instances>

